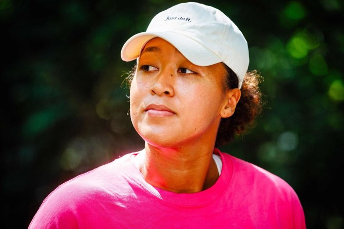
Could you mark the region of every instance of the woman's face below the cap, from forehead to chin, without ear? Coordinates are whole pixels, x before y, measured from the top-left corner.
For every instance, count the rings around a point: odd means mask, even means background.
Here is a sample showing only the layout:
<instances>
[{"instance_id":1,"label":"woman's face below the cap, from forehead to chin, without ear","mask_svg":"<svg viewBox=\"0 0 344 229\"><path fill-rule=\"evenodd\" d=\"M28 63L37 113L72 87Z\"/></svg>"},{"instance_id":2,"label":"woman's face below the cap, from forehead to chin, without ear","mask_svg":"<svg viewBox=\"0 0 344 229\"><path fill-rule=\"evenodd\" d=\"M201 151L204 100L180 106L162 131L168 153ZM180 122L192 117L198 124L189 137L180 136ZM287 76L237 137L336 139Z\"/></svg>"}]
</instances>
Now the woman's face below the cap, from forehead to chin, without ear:
<instances>
[{"instance_id":1,"label":"woman's face below the cap, from forehead to chin, without ear","mask_svg":"<svg viewBox=\"0 0 344 229\"><path fill-rule=\"evenodd\" d=\"M144 47L130 87L130 116L157 147L215 143L226 107L225 68L192 64L163 39Z\"/></svg>"}]
</instances>

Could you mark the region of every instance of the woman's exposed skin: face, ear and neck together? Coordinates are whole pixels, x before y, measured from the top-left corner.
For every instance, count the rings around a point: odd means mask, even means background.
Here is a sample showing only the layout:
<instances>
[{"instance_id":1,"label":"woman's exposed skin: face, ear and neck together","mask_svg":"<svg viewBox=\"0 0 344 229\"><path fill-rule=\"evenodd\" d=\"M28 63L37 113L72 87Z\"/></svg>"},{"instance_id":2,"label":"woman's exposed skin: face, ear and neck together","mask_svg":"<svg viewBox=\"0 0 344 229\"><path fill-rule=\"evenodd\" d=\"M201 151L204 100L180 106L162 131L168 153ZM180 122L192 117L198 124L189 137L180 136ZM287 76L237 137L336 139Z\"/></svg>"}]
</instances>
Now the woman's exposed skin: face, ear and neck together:
<instances>
[{"instance_id":1,"label":"woman's exposed skin: face, ear and neck together","mask_svg":"<svg viewBox=\"0 0 344 229\"><path fill-rule=\"evenodd\" d=\"M130 88L133 126L145 140L135 163L146 181L177 193L212 186L212 154L221 118L230 117L240 90L223 90L221 63L192 64L168 42L149 41Z\"/></svg>"}]
</instances>

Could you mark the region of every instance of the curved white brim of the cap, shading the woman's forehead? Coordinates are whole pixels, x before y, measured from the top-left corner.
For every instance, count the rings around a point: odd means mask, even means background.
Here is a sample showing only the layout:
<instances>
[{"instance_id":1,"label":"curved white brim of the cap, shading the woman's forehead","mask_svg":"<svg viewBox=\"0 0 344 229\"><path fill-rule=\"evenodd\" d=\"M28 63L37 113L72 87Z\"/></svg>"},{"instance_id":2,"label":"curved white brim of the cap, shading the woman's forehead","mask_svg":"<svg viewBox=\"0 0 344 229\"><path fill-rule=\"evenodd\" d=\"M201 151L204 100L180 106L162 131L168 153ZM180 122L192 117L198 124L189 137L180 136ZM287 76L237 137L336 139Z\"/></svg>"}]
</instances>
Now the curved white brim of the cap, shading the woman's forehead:
<instances>
[{"instance_id":1,"label":"curved white brim of the cap, shading the woman's forehead","mask_svg":"<svg viewBox=\"0 0 344 229\"><path fill-rule=\"evenodd\" d=\"M133 35L122 47L122 60L132 61L139 58L142 48L154 37L161 37L175 46L187 60L195 65L209 66L222 62L219 56L199 42L176 32L142 32Z\"/></svg>"}]
</instances>

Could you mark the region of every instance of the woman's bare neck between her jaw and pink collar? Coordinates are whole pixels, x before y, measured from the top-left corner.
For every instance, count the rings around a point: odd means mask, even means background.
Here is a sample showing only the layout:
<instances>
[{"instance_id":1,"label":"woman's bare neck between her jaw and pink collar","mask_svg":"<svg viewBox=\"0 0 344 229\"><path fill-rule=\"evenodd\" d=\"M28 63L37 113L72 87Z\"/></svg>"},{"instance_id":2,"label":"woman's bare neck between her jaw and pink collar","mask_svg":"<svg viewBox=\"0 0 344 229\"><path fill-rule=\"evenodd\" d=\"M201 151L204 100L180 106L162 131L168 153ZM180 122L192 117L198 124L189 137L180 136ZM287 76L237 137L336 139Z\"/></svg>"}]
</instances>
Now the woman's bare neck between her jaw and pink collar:
<instances>
[{"instance_id":1,"label":"woman's bare neck between her jaw and pink collar","mask_svg":"<svg viewBox=\"0 0 344 229\"><path fill-rule=\"evenodd\" d=\"M135 163L145 180L175 193L196 193L214 185L219 174L213 160L214 146L159 148L148 143Z\"/></svg>"}]
</instances>

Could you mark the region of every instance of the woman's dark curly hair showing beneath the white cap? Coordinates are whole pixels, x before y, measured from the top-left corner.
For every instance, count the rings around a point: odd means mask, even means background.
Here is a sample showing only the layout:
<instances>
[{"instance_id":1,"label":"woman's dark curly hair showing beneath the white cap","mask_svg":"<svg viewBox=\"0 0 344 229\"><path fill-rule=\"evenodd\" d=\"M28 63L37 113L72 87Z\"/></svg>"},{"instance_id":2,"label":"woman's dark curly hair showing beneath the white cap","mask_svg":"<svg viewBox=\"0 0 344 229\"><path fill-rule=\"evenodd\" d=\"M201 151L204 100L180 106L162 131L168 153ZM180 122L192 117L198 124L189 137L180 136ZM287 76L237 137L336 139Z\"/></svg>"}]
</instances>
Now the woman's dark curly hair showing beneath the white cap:
<instances>
[{"instance_id":1,"label":"woman's dark curly hair showing beneath the white cap","mask_svg":"<svg viewBox=\"0 0 344 229\"><path fill-rule=\"evenodd\" d=\"M222 63L223 64L223 63ZM239 85L238 76L234 71L223 64L226 69L224 90L228 88L237 88ZM130 87L136 65L127 73L124 82ZM241 97L231 117L222 118L216 136L215 146L227 144L234 140L236 136L241 136L247 127L254 124L255 118L261 113L263 102L261 91L258 84L263 80L256 71L248 71L241 86Z\"/></svg>"}]
</instances>

